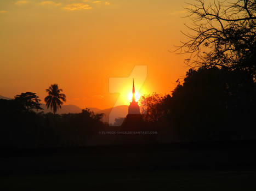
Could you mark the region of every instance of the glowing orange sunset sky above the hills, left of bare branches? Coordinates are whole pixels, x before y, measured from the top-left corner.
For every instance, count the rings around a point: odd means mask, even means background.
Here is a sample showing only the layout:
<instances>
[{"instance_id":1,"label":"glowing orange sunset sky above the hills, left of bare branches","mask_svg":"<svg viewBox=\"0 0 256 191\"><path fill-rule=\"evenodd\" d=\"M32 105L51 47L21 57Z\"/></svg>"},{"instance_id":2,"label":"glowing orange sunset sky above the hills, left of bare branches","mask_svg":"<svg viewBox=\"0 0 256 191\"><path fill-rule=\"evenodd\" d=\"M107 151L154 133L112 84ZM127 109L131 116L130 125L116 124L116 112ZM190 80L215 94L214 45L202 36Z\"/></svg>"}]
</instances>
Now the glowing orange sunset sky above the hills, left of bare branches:
<instances>
[{"instance_id":1,"label":"glowing orange sunset sky above the hills, left of bare branches","mask_svg":"<svg viewBox=\"0 0 256 191\"><path fill-rule=\"evenodd\" d=\"M184 7L180 0L1 0L0 95L31 91L44 103L45 89L58 83L65 104L111 108L119 94L109 92L109 78L128 77L135 65L147 65L140 94L170 93L189 69L187 56L168 52L185 39ZM132 91L132 79L123 86ZM128 103L127 94L121 104Z\"/></svg>"}]
</instances>

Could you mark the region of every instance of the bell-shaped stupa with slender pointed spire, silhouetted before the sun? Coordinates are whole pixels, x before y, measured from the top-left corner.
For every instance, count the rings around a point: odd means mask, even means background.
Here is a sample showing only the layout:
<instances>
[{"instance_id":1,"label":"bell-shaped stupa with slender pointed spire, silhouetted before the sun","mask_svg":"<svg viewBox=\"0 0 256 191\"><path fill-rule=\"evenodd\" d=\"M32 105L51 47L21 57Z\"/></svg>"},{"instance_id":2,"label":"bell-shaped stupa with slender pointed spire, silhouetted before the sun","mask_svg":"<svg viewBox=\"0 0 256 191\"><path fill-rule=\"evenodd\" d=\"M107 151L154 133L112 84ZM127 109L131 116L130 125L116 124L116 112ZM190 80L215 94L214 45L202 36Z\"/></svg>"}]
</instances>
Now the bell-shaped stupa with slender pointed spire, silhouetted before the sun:
<instances>
[{"instance_id":1,"label":"bell-shaped stupa with slender pointed spire, silhouetted before the sun","mask_svg":"<svg viewBox=\"0 0 256 191\"><path fill-rule=\"evenodd\" d=\"M130 102L128 108L128 115L124 118L122 123L122 129L127 128L127 130L132 130L133 128L143 127L144 121L143 117L140 114L140 107L138 102L135 100L135 88L134 88L134 79L133 79L133 97L132 102Z\"/></svg>"}]
</instances>

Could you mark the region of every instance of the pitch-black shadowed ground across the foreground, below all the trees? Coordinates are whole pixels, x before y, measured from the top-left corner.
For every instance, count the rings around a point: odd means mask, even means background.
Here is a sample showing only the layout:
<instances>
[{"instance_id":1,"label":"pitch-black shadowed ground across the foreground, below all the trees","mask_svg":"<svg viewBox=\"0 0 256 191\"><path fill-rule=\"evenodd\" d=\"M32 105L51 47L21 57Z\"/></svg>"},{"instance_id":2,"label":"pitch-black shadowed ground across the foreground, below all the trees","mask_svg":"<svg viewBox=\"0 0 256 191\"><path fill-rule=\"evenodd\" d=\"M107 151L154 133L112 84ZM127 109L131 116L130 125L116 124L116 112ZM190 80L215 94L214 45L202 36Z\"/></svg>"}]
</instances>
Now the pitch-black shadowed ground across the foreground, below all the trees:
<instances>
[{"instance_id":1,"label":"pitch-black shadowed ground across the foreground, below all the trees","mask_svg":"<svg viewBox=\"0 0 256 191\"><path fill-rule=\"evenodd\" d=\"M256 190L255 141L4 149L0 190Z\"/></svg>"}]
</instances>

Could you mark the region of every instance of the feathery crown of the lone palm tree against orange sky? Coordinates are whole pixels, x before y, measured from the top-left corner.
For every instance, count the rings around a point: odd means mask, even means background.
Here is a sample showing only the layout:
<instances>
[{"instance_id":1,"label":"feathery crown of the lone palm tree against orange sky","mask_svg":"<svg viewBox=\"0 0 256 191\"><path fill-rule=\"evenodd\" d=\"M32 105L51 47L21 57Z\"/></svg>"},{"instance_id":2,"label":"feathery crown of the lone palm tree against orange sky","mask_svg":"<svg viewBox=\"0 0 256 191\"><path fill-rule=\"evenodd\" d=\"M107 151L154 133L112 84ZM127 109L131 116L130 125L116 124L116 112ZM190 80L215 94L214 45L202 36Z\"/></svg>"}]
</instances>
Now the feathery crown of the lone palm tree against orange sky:
<instances>
[{"instance_id":1,"label":"feathery crown of the lone palm tree against orange sky","mask_svg":"<svg viewBox=\"0 0 256 191\"><path fill-rule=\"evenodd\" d=\"M63 105L63 102L66 102L66 95L62 92L62 89L59 89L58 84L50 85L48 89L48 96L44 98L47 109L50 107L53 110L53 113L56 114L56 111Z\"/></svg>"}]
</instances>

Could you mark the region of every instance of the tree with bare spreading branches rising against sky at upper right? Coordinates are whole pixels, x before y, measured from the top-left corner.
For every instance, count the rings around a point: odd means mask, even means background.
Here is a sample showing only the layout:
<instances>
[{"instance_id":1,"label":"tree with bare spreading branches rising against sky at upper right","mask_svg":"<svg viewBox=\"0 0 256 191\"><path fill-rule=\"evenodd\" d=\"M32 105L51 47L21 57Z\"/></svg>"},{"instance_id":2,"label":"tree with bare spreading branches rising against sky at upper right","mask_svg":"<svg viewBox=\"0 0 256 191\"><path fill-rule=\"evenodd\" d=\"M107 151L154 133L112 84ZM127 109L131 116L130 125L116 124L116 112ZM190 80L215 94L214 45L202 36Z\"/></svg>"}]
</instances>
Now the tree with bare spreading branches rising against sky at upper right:
<instances>
[{"instance_id":1,"label":"tree with bare spreading branches rising against sky at upper right","mask_svg":"<svg viewBox=\"0 0 256 191\"><path fill-rule=\"evenodd\" d=\"M177 50L190 53L186 63L191 67L218 66L245 71L256 77L256 2L196 0L189 3L187 17L192 21ZM176 50L176 51L177 51Z\"/></svg>"}]
</instances>

